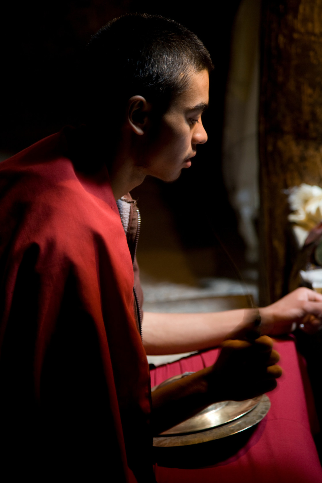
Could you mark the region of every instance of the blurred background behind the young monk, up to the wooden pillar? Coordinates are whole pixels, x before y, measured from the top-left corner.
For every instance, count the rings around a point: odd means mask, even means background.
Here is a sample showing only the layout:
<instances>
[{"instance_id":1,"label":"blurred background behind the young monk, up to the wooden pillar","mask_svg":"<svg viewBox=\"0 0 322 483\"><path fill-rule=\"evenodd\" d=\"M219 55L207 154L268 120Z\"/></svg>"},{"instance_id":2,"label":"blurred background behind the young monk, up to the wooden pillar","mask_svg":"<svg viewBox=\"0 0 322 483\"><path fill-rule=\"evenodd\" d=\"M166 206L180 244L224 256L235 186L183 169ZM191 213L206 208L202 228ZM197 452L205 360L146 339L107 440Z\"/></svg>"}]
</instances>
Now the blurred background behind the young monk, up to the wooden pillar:
<instances>
[{"instance_id":1,"label":"blurred background behind the young monk, up to the wooden pillar","mask_svg":"<svg viewBox=\"0 0 322 483\"><path fill-rule=\"evenodd\" d=\"M208 142L176 182L149 178L132 192L142 218L138 260L149 310L159 301L245 291L257 300L260 2L213 6L215 14L206 3L191 8L169 0L13 1L2 7L0 159L70 122L73 61L112 18L161 14L194 31L210 51L215 71L204 114Z\"/></svg>"}]
</instances>

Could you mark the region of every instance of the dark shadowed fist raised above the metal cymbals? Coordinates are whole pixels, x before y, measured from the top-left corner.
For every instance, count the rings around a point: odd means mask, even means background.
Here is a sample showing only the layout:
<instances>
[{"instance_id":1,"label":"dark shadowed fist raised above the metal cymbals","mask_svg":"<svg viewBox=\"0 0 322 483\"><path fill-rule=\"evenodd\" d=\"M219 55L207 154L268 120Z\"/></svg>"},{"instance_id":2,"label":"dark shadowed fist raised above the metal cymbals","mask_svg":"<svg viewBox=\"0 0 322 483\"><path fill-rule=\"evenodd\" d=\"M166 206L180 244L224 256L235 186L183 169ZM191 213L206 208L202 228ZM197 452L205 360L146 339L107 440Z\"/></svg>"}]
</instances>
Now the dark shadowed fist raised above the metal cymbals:
<instances>
[{"instance_id":1,"label":"dark shadowed fist raised above the metal cymbals","mask_svg":"<svg viewBox=\"0 0 322 483\"><path fill-rule=\"evenodd\" d=\"M214 384L213 390L220 391L222 400L241 401L271 391L282 373L272 339L260 335L258 311L249 311L247 317L249 320L222 343L209 374L209 389Z\"/></svg>"}]
</instances>

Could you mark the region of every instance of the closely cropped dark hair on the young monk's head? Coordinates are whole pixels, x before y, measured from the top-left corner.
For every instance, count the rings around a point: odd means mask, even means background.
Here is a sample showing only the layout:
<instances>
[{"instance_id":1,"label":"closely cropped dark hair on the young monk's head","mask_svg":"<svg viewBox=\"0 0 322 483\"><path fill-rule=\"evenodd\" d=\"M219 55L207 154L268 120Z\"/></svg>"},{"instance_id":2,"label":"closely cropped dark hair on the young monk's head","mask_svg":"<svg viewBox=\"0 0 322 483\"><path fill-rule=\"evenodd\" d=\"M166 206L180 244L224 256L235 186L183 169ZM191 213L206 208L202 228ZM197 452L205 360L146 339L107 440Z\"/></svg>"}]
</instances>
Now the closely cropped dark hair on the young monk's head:
<instances>
[{"instance_id":1,"label":"closely cropped dark hair on the young monk's head","mask_svg":"<svg viewBox=\"0 0 322 483\"><path fill-rule=\"evenodd\" d=\"M149 14L108 22L91 38L85 58L86 117L99 123L108 116L108 107L122 107L134 95L165 112L173 96L185 90L192 70L213 69L208 50L194 33L174 20Z\"/></svg>"}]
</instances>

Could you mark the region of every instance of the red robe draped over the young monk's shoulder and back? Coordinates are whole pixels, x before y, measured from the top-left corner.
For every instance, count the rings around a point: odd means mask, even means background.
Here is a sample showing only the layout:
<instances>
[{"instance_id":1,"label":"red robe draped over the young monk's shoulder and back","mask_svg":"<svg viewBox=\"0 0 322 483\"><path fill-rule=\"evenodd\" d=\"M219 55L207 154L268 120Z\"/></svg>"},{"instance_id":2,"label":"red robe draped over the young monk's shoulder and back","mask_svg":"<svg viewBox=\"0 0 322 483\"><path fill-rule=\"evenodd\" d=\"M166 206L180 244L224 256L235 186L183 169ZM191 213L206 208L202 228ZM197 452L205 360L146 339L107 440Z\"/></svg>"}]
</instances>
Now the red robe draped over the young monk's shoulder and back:
<instances>
[{"instance_id":1,"label":"red robe draped over the young monk's shoulder and back","mask_svg":"<svg viewBox=\"0 0 322 483\"><path fill-rule=\"evenodd\" d=\"M58 133L0 164L0 474L150 481L126 236L105 165L66 153Z\"/></svg>"}]
</instances>

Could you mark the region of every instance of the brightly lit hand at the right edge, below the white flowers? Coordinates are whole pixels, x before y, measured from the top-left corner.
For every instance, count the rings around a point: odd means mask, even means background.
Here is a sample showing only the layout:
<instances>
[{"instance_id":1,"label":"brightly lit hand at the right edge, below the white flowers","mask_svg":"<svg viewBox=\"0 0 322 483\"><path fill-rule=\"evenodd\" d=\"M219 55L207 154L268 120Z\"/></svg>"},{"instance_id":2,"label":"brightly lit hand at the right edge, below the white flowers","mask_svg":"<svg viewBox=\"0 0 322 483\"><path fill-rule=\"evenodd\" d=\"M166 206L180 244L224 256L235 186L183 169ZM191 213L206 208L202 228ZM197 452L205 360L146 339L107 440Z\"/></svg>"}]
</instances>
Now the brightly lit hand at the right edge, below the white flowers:
<instances>
[{"instance_id":1,"label":"brightly lit hand at the right edge, below the white flowers","mask_svg":"<svg viewBox=\"0 0 322 483\"><path fill-rule=\"evenodd\" d=\"M286 334L296 327L313 334L322 329L322 294L300 287L260 309L260 314L265 334Z\"/></svg>"}]
</instances>

